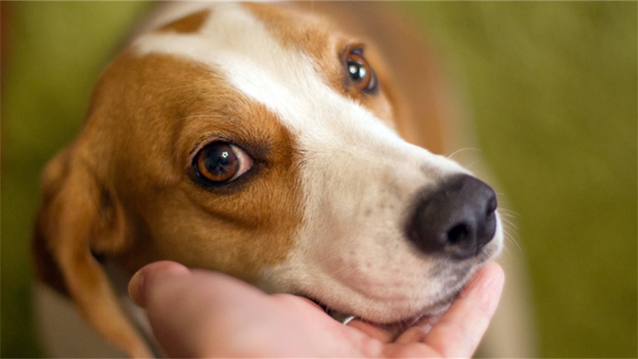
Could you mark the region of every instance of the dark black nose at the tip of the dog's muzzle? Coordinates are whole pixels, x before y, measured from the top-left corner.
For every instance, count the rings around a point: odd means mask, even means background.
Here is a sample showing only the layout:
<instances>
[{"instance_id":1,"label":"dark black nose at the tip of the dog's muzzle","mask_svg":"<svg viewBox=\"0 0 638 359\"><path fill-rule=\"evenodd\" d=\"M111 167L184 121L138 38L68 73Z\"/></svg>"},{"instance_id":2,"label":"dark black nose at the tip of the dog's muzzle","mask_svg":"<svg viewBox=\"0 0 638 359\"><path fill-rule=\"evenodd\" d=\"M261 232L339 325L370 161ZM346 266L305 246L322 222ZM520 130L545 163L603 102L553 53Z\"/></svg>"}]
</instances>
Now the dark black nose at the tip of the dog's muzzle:
<instances>
[{"instance_id":1,"label":"dark black nose at the tip of the dog's muzzle","mask_svg":"<svg viewBox=\"0 0 638 359\"><path fill-rule=\"evenodd\" d=\"M408 238L432 255L455 259L477 255L496 232L496 194L469 175L424 189L408 221Z\"/></svg>"}]
</instances>

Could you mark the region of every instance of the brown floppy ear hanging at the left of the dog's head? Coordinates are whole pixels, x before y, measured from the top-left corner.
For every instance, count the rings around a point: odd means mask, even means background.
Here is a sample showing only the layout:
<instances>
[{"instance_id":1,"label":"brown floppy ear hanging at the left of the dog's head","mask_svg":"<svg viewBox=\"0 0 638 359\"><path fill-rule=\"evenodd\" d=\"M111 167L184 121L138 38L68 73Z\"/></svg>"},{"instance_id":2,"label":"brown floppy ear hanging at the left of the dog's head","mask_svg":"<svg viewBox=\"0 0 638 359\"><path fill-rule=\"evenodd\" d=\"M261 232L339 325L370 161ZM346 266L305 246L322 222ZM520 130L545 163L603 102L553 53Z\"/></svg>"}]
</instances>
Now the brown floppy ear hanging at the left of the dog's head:
<instances>
[{"instance_id":1,"label":"brown floppy ear hanging at the left of the dog's head","mask_svg":"<svg viewBox=\"0 0 638 359\"><path fill-rule=\"evenodd\" d=\"M69 146L45 168L33 238L35 270L41 280L71 297L108 341L130 356L150 357L91 254L91 247L113 253L124 245L123 211L76 150Z\"/></svg>"}]
</instances>

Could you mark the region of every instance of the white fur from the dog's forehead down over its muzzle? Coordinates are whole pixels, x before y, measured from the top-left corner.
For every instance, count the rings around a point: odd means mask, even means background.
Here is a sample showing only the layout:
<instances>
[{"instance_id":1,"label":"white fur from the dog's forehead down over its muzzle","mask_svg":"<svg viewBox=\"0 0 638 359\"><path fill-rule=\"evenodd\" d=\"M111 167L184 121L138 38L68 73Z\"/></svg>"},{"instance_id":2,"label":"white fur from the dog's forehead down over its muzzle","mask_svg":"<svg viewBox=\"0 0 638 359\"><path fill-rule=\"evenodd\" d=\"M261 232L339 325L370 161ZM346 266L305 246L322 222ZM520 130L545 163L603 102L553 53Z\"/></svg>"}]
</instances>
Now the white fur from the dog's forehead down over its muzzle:
<instances>
[{"instance_id":1,"label":"white fur from the dog's forehead down over its muzzle","mask_svg":"<svg viewBox=\"0 0 638 359\"><path fill-rule=\"evenodd\" d=\"M224 74L279 116L299 144L303 226L288 260L264 270L262 286L373 321L441 309L437 302L459 289L454 283L463 283L478 260L466 261L464 270L436 270L445 266L410 245L405 221L419 189L466 170L405 143L371 111L335 92L315 70L318 64L283 48L242 6L213 6L199 33L150 33L135 48L139 55L186 57ZM498 221L486 252L496 254L501 245Z\"/></svg>"}]
</instances>

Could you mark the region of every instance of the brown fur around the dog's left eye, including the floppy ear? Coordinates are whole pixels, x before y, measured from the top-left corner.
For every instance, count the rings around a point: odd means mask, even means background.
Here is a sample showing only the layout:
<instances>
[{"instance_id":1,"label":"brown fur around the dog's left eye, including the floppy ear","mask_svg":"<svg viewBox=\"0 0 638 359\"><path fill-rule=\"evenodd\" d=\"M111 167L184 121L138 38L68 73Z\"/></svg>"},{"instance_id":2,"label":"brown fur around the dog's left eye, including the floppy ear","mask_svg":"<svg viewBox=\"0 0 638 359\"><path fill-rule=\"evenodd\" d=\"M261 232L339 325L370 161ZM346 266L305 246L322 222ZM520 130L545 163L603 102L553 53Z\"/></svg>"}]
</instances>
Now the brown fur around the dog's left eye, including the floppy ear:
<instances>
[{"instance_id":1,"label":"brown fur around the dog's left eye, including the floppy ear","mask_svg":"<svg viewBox=\"0 0 638 359\"><path fill-rule=\"evenodd\" d=\"M194 145L212 133L252 146L252 186L208 191L185 177ZM168 259L255 280L259 268L284 258L301 221L292 146L275 116L210 70L125 53L96 87L77 141L45 171L34 242L39 272L107 338L147 355L94 255L130 272Z\"/></svg>"}]
</instances>

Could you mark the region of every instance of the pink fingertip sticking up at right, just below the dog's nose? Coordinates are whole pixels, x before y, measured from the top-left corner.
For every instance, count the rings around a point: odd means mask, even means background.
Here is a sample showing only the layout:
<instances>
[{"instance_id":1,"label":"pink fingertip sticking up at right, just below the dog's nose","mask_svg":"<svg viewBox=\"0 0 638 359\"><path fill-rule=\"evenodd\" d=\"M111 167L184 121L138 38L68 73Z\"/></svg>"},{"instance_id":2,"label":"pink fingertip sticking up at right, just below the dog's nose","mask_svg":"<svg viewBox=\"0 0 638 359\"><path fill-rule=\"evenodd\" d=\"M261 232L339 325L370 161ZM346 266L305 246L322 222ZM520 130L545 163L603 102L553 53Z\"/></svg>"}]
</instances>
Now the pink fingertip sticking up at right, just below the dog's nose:
<instances>
[{"instance_id":1,"label":"pink fingertip sticking up at right, just below the dog's nose","mask_svg":"<svg viewBox=\"0 0 638 359\"><path fill-rule=\"evenodd\" d=\"M481 268L423 343L447 358L473 355L496 311L504 282L500 265L488 263Z\"/></svg>"}]
</instances>

